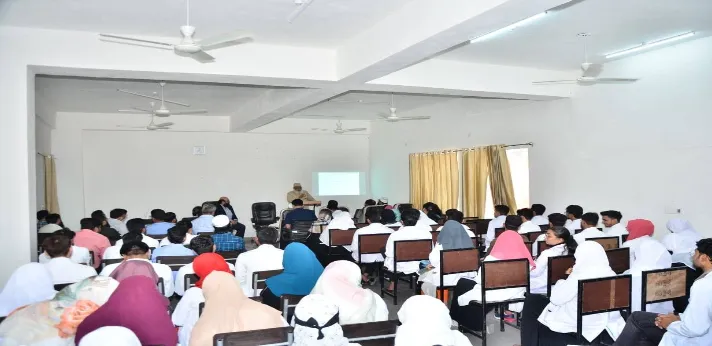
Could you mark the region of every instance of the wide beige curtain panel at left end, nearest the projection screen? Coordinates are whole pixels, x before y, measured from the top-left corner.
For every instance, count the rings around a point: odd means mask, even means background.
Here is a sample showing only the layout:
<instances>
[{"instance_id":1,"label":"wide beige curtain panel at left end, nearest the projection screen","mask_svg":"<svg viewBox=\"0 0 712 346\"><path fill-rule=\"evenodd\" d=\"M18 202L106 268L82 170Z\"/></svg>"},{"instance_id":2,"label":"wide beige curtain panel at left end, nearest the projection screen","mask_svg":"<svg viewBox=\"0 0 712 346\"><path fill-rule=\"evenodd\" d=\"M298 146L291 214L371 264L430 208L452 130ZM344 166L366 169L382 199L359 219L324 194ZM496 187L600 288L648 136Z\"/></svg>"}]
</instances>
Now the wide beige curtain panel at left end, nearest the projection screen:
<instances>
[{"instance_id":1,"label":"wide beige curtain panel at left end, nearest the projection screen","mask_svg":"<svg viewBox=\"0 0 712 346\"><path fill-rule=\"evenodd\" d=\"M434 202L442 210L457 208L459 188L457 153L410 154L410 201L414 206Z\"/></svg>"}]
</instances>

